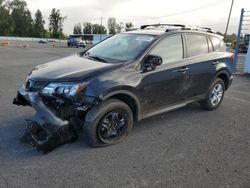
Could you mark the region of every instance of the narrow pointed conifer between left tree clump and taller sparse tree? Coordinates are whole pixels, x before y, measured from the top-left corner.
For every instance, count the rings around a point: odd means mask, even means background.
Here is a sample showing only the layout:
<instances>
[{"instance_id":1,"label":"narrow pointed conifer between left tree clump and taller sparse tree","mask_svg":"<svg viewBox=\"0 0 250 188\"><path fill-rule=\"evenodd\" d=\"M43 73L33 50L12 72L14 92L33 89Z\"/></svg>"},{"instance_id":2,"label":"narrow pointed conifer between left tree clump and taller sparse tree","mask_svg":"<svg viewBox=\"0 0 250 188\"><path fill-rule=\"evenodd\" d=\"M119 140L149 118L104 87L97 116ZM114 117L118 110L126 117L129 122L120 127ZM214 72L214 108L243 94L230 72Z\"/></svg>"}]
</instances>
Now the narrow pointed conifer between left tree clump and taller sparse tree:
<instances>
[{"instance_id":1,"label":"narrow pointed conifer between left tree clump and taller sparse tree","mask_svg":"<svg viewBox=\"0 0 250 188\"><path fill-rule=\"evenodd\" d=\"M42 12L38 9L35 14L34 20L34 37L45 37L46 31L44 29L45 21Z\"/></svg>"}]
</instances>

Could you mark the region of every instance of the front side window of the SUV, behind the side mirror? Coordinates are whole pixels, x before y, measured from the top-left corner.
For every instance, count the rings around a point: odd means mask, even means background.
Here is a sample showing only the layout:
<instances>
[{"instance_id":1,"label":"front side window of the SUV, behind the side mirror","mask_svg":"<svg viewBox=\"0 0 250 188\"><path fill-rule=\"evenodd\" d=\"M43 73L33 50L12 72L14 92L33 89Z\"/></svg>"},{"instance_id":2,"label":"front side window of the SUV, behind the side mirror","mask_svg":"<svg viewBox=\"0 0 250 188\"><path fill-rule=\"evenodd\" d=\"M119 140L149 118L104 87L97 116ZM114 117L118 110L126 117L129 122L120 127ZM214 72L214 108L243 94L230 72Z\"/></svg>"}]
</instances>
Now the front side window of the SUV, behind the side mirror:
<instances>
[{"instance_id":1,"label":"front side window of the SUV, behind the side mirror","mask_svg":"<svg viewBox=\"0 0 250 188\"><path fill-rule=\"evenodd\" d=\"M174 35L162 39L150 52L162 57L163 64L183 59L183 45L181 35Z\"/></svg>"}]
</instances>

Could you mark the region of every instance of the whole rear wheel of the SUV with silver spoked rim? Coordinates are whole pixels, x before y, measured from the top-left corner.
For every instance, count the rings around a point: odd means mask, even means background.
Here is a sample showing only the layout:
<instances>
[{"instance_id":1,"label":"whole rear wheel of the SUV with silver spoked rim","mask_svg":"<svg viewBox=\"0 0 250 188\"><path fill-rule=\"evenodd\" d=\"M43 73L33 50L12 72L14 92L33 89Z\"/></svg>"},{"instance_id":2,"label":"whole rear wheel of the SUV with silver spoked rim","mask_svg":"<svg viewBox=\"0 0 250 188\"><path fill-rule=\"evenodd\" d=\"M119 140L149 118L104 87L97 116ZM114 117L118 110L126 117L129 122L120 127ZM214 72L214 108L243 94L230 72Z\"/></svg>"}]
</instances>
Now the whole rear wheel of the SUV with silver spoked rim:
<instances>
[{"instance_id":1,"label":"whole rear wheel of the SUV with silver spoked rim","mask_svg":"<svg viewBox=\"0 0 250 188\"><path fill-rule=\"evenodd\" d=\"M201 107L205 110L215 110L223 100L225 84L222 79L216 78L209 87L206 99L201 101Z\"/></svg>"}]
</instances>

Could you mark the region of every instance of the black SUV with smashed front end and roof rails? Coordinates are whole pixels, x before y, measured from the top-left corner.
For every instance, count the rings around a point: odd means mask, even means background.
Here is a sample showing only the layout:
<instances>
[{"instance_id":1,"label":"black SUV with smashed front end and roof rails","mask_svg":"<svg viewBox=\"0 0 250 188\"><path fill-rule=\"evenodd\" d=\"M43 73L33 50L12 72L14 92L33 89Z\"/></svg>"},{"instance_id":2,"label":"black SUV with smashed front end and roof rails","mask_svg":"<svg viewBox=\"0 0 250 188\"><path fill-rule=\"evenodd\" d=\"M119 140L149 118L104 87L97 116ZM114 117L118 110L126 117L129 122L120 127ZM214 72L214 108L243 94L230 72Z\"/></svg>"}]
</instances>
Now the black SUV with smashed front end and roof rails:
<instances>
[{"instance_id":1,"label":"black SUV with smashed front end and roof rails","mask_svg":"<svg viewBox=\"0 0 250 188\"><path fill-rule=\"evenodd\" d=\"M122 141L133 123L191 102L216 109L233 54L208 28L145 25L35 67L14 104L32 106L26 136L47 152L86 131L92 146Z\"/></svg>"}]
</instances>

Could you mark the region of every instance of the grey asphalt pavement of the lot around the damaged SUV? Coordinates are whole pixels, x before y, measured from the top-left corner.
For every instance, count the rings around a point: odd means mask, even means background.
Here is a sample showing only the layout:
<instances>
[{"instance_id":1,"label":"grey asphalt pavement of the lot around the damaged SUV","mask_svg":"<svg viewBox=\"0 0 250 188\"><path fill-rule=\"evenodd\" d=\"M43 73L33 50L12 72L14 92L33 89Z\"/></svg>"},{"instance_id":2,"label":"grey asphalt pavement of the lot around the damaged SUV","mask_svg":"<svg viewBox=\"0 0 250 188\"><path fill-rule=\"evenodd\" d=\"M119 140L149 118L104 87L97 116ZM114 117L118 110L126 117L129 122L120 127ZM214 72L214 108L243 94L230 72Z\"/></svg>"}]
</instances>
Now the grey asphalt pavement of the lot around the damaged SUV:
<instances>
[{"instance_id":1,"label":"grey asphalt pavement of the lot around the damaged SUV","mask_svg":"<svg viewBox=\"0 0 250 188\"><path fill-rule=\"evenodd\" d=\"M42 155L20 142L29 107L12 105L35 65L81 49L0 46L0 187L250 187L250 77L222 105L194 103L134 125L122 143L91 148L84 133Z\"/></svg>"}]
</instances>

